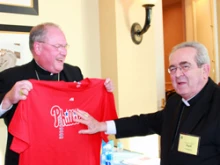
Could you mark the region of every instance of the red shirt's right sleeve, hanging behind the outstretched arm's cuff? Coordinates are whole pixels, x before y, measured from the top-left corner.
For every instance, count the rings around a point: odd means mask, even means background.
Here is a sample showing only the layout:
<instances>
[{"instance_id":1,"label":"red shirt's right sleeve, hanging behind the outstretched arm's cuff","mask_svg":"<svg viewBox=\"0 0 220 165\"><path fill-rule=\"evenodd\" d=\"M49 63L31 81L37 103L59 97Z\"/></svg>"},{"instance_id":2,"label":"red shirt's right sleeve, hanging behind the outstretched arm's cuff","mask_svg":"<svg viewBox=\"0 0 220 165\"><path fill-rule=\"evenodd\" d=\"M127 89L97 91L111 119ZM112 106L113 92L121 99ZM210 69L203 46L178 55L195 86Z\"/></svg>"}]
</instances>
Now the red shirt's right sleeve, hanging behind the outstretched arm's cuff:
<instances>
[{"instance_id":1,"label":"red shirt's right sleeve, hanging behind the outstretched arm's cuff","mask_svg":"<svg viewBox=\"0 0 220 165\"><path fill-rule=\"evenodd\" d=\"M115 107L114 95L112 92L104 92L102 107L104 111L102 121L115 120L118 118ZM106 135L104 132L101 133L101 136L105 142L108 141L108 135Z\"/></svg>"}]
</instances>

